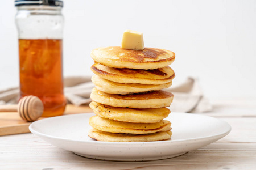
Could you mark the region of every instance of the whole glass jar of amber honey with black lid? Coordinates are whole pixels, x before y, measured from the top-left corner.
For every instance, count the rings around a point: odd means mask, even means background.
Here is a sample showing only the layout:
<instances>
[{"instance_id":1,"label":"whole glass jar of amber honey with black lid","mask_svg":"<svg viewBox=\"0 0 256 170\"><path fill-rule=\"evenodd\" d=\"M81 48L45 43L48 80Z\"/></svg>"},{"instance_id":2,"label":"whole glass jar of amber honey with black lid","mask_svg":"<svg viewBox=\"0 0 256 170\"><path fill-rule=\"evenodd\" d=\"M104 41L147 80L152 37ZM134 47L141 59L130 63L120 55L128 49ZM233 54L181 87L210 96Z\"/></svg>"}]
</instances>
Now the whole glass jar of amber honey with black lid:
<instances>
[{"instance_id":1,"label":"whole glass jar of amber honey with black lid","mask_svg":"<svg viewBox=\"0 0 256 170\"><path fill-rule=\"evenodd\" d=\"M38 96L42 117L60 116L63 92L63 1L15 1L19 39L20 97Z\"/></svg>"}]
</instances>

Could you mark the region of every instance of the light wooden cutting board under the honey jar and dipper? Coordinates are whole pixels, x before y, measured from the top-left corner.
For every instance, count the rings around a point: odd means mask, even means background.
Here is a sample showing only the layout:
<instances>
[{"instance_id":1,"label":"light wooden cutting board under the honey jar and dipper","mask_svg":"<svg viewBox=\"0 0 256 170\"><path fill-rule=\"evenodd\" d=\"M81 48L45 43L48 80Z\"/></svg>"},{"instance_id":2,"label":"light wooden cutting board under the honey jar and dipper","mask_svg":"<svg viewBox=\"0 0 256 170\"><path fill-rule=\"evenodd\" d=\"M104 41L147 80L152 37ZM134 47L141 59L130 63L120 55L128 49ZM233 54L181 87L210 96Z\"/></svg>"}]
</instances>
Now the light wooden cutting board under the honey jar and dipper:
<instances>
[{"instance_id":1,"label":"light wooden cutting board under the honey jar and dipper","mask_svg":"<svg viewBox=\"0 0 256 170\"><path fill-rule=\"evenodd\" d=\"M68 104L65 114L77 114L92 112L89 106L80 106ZM39 118L43 119L43 118ZM28 126L31 122L26 122L20 118L18 112L0 112L0 136L10 134L29 133Z\"/></svg>"}]
</instances>

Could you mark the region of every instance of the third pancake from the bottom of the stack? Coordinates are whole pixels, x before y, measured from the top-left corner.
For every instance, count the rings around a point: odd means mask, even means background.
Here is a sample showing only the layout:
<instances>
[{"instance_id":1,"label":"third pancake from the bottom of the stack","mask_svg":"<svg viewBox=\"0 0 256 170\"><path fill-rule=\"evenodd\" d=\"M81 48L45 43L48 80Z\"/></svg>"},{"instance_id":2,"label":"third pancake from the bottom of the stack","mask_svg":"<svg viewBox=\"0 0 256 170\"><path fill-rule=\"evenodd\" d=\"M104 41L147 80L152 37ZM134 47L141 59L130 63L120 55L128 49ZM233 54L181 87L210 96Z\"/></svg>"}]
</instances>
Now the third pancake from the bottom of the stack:
<instances>
[{"instance_id":1,"label":"third pancake from the bottom of the stack","mask_svg":"<svg viewBox=\"0 0 256 170\"><path fill-rule=\"evenodd\" d=\"M166 118L170 113L170 109L133 109L118 108L109 105L100 104L92 101L90 108L97 116L109 118L115 121L134 122L134 123L155 123Z\"/></svg>"}]
</instances>

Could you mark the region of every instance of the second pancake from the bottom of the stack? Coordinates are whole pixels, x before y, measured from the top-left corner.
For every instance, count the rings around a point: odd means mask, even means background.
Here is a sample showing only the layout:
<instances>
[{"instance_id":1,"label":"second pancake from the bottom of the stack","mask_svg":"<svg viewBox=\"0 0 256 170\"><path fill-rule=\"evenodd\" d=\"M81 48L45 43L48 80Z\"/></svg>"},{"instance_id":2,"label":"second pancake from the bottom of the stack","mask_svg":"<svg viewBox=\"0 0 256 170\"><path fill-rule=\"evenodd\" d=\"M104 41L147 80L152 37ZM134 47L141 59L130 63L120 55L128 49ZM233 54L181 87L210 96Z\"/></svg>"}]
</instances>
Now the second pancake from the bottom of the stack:
<instances>
[{"instance_id":1,"label":"second pancake from the bottom of the stack","mask_svg":"<svg viewBox=\"0 0 256 170\"><path fill-rule=\"evenodd\" d=\"M93 116L90 117L89 124L95 129L111 133L147 134L171 130L171 122L167 120L156 123L130 123Z\"/></svg>"}]
</instances>

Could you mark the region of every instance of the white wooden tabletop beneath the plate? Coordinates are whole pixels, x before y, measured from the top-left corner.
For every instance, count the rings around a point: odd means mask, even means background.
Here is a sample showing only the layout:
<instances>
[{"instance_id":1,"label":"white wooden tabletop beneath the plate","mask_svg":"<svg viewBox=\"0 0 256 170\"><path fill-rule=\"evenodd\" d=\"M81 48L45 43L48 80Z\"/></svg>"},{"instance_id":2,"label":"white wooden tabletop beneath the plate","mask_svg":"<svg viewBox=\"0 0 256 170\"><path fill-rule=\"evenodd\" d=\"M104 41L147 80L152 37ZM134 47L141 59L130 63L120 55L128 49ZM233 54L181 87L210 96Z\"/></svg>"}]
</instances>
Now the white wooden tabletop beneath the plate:
<instances>
[{"instance_id":1,"label":"white wooden tabletop beneath the plate","mask_svg":"<svg viewBox=\"0 0 256 170\"><path fill-rule=\"evenodd\" d=\"M202 113L232 126L226 137L176 158L113 162L83 158L31 133L0 137L0 169L256 169L256 98L211 99Z\"/></svg>"}]
</instances>

